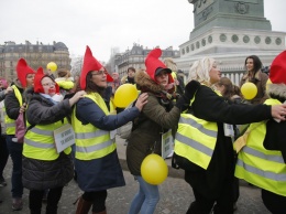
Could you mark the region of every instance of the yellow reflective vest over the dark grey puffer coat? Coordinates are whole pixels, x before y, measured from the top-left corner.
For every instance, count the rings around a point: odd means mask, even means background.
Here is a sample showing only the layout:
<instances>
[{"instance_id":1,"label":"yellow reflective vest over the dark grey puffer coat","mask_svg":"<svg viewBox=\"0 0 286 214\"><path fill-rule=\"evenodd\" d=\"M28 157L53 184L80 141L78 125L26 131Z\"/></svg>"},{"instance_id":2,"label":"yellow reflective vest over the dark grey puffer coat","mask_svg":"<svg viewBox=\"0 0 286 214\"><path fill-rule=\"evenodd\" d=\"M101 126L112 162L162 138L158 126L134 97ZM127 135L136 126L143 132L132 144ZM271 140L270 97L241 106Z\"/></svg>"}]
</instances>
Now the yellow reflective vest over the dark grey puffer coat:
<instances>
[{"instance_id":1,"label":"yellow reflective vest over the dark grey puffer coat","mask_svg":"<svg viewBox=\"0 0 286 214\"><path fill-rule=\"evenodd\" d=\"M66 124L67 120L64 119L64 122L57 121L50 125L36 125L30 129L24 137L23 156L37 160L57 159L59 153L57 153L55 148L54 130ZM29 126L28 124L26 127ZM66 148L64 152L69 154L72 148Z\"/></svg>"}]
</instances>

